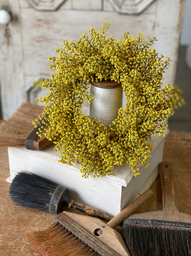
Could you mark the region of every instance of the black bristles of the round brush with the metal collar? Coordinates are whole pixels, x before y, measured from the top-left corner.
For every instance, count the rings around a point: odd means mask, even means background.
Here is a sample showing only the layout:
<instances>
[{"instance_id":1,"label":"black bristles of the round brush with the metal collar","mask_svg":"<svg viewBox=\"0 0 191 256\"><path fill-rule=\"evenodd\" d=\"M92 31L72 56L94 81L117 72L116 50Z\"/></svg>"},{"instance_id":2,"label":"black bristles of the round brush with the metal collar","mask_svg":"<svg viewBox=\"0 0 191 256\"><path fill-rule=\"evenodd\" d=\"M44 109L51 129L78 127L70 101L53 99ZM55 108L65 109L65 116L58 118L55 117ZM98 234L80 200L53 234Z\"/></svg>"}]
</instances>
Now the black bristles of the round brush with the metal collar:
<instances>
[{"instance_id":1,"label":"black bristles of the round brush with the metal collar","mask_svg":"<svg viewBox=\"0 0 191 256\"><path fill-rule=\"evenodd\" d=\"M49 203L58 184L30 172L20 172L13 179L9 194L19 206L49 211Z\"/></svg>"}]
</instances>

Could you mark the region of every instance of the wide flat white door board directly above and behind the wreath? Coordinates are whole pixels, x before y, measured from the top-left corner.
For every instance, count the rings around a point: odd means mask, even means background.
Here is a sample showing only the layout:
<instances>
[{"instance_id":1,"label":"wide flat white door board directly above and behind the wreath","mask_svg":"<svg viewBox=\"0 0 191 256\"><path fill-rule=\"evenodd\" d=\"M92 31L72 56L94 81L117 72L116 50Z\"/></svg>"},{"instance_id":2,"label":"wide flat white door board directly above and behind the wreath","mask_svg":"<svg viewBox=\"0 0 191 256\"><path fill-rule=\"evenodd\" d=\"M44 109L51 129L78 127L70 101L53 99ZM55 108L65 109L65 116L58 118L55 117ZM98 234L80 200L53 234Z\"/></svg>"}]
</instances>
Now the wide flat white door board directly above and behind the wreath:
<instances>
[{"instance_id":1,"label":"wide flat white door board directly above and behind the wreath","mask_svg":"<svg viewBox=\"0 0 191 256\"><path fill-rule=\"evenodd\" d=\"M24 68L27 75L38 72L50 73L48 57L55 55L55 49L62 47L64 39L77 40L82 33L88 33L91 27L99 30L104 20L110 22L108 35L114 35L117 39L123 39L124 31L129 31L134 36L142 32L148 39L152 33L151 24L155 22L154 14L140 17L115 12L75 10L58 10L58 13L44 12L43 16L39 17L39 13L34 9L22 10ZM76 20L79 21L77 29Z\"/></svg>"}]
</instances>

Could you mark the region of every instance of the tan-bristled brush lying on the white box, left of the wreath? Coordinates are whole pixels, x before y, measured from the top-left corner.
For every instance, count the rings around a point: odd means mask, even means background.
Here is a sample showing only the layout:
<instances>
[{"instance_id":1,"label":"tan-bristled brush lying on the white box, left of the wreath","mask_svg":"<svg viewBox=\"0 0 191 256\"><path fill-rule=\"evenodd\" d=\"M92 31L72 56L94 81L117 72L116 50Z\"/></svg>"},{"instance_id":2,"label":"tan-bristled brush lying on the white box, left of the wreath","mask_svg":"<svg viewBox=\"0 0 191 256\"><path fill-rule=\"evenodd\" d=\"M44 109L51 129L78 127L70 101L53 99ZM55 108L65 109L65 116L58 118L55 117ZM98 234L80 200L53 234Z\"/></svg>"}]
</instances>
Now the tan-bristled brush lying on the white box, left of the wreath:
<instances>
[{"instance_id":1,"label":"tan-bristled brush lying on the white box, left of the wreath","mask_svg":"<svg viewBox=\"0 0 191 256\"><path fill-rule=\"evenodd\" d=\"M27 149L41 150L51 145L53 141L44 135L40 138L36 133L33 121L43 112L44 107L32 103L23 103L13 115L1 122L0 146L27 147Z\"/></svg>"}]
</instances>

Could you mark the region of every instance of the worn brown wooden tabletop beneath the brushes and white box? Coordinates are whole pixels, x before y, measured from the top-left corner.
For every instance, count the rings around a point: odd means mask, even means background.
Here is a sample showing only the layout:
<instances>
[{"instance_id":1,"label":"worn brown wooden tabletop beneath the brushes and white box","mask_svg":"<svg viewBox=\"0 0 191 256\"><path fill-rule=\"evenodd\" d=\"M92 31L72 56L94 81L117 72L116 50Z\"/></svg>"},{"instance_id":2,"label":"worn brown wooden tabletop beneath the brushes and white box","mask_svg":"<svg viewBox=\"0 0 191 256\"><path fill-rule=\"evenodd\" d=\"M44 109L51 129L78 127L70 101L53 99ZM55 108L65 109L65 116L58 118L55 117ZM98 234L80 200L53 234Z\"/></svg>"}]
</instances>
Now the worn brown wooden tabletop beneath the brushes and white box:
<instances>
[{"instance_id":1,"label":"worn brown wooden tabletop beneath the brushes and white box","mask_svg":"<svg viewBox=\"0 0 191 256\"><path fill-rule=\"evenodd\" d=\"M191 215L191 133L171 131L165 139L163 160L173 168L176 205L180 212ZM0 147L0 255L34 256L26 232L43 230L53 223L56 214L14 205L9 197L10 184L7 147ZM153 196L134 213L162 210L159 176L151 185Z\"/></svg>"}]
</instances>

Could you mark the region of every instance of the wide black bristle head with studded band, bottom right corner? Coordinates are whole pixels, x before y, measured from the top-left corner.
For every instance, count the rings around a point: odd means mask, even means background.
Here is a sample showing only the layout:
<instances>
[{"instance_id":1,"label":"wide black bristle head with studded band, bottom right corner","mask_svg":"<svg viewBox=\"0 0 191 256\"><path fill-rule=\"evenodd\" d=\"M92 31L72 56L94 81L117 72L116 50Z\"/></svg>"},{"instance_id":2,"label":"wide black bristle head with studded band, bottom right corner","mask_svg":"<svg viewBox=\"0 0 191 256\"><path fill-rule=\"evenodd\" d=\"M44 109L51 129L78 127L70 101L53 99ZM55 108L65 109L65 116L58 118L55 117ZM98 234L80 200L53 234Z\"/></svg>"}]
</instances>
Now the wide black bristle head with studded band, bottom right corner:
<instances>
[{"instance_id":1,"label":"wide black bristle head with studded band, bottom right corner","mask_svg":"<svg viewBox=\"0 0 191 256\"><path fill-rule=\"evenodd\" d=\"M126 219L123 237L132 256L191 256L191 224Z\"/></svg>"}]
</instances>

